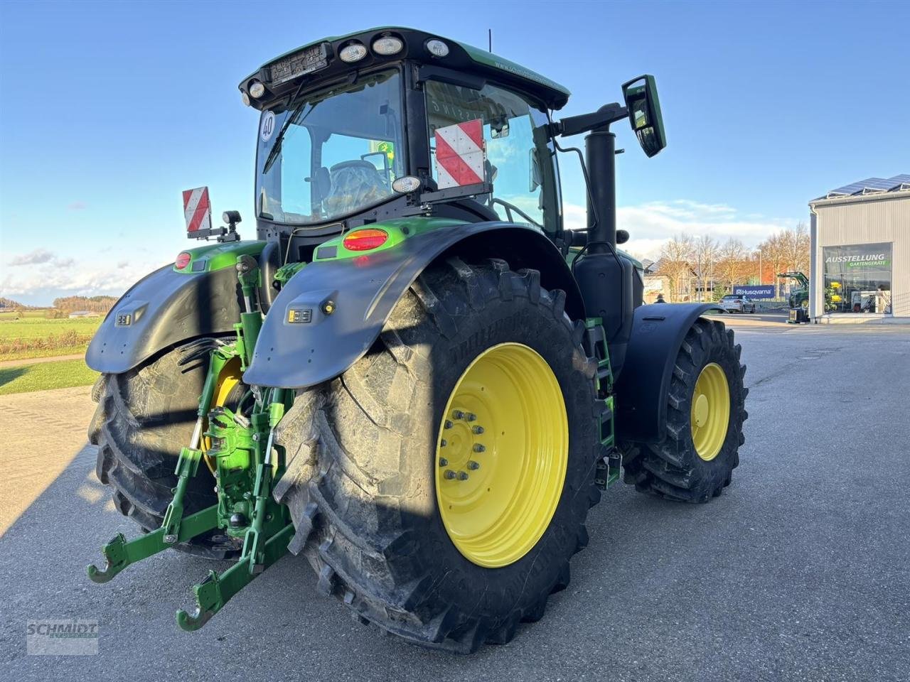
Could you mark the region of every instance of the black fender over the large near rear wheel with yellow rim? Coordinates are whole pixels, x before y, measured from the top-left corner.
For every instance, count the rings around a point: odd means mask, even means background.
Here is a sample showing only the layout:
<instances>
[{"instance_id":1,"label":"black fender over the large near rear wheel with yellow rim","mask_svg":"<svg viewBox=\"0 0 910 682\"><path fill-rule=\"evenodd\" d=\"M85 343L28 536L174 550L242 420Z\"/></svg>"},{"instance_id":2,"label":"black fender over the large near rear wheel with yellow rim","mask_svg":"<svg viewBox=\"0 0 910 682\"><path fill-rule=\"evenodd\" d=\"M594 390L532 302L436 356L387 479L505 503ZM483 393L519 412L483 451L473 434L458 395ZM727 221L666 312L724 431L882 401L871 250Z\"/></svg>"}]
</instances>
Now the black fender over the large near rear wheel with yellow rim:
<instances>
[{"instance_id":1,"label":"black fender over the large near rear wheel with yellow rim","mask_svg":"<svg viewBox=\"0 0 910 682\"><path fill-rule=\"evenodd\" d=\"M584 317L569 266L541 231L498 221L439 227L388 250L305 266L275 298L244 381L304 388L339 376L373 345L420 272L450 255L494 256L512 269L537 269L542 286L566 293L569 316Z\"/></svg>"}]
</instances>

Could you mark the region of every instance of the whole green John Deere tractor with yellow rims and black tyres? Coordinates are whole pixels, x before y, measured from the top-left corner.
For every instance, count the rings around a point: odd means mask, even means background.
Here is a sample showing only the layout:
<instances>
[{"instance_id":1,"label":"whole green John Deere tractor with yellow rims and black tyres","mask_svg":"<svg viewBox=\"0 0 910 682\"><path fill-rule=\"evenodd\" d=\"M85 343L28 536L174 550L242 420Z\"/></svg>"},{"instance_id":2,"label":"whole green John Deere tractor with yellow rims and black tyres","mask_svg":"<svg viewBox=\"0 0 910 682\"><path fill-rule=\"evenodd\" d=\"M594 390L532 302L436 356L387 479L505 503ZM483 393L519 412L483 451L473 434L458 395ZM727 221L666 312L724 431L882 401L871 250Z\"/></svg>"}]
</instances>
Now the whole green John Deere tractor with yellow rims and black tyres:
<instances>
[{"instance_id":1,"label":"whole green John Deere tractor with yellow rims and black tyres","mask_svg":"<svg viewBox=\"0 0 910 682\"><path fill-rule=\"evenodd\" d=\"M617 250L610 126L662 149L652 76L554 120L561 85L378 28L239 89L260 113L258 239L194 214L215 240L130 288L86 354L97 476L142 531L92 580L169 547L233 560L177 612L195 630L302 554L361 622L472 652L543 616L621 471L682 502L730 484L733 331L711 305L642 305ZM588 226L568 231L557 151L580 134Z\"/></svg>"}]
</instances>

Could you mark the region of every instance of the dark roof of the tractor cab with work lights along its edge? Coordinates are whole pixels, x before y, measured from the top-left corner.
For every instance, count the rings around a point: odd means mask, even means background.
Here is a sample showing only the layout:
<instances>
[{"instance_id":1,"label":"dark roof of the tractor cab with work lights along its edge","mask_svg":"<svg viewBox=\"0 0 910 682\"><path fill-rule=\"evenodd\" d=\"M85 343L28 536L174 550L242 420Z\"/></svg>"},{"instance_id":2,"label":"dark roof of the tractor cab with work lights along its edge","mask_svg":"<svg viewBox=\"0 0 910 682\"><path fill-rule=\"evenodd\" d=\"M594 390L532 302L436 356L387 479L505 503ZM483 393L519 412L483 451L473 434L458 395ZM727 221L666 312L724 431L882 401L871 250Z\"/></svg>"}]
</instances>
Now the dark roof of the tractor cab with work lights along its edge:
<instances>
[{"instance_id":1,"label":"dark roof of the tractor cab with work lights along its edge","mask_svg":"<svg viewBox=\"0 0 910 682\"><path fill-rule=\"evenodd\" d=\"M404 43L404 48L396 55L376 55L370 46L373 42L386 35L393 35L400 38ZM427 49L426 44L431 39L441 40L449 46L449 54L437 57L432 55ZM345 64L339 59L339 51L353 43L360 43L367 47L367 55L354 64ZM294 77L287 82L272 85L273 68L281 62L287 63L288 59L294 55L300 55L307 50L313 50L320 45L325 45L326 65L319 66L318 69L308 72L306 75ZM258 72L249 75L239 85L241 92L248 92L248 86L254 80L259 80L266 85L267 92L272 95L261 98L262 104L276 96L283 96L287 91L293 91L298 88L302 78L306 77L314 83L322 80L324 77L339 75L342 72L349 71L352 68L361 68L364 66L381 65L383 62L397 62L401 59L414 59L429 65L438 65L447 67L456 71L465 71L478 75L489 75L497 81L504 84L513 85L531 95L536 95L545 105L551 109L561 109L566 104L571 93L562 85L551 81L544 75L540 75L531 69L515 64L508 59L490 52L481 50L473 45L466 45L456 40L443 37L441 35L430 34L414 28L405 28L402 26L379 26L370 28L365 31L358 31L348 35L332 35L322 38L321 40L301 45L300 47L290 50L283 55L278 55L274 59L262 65ZM252 105L257 106L258 102L253 100ZM257 106L257 108L260 108Z\"/></svg>"}]
</instances>

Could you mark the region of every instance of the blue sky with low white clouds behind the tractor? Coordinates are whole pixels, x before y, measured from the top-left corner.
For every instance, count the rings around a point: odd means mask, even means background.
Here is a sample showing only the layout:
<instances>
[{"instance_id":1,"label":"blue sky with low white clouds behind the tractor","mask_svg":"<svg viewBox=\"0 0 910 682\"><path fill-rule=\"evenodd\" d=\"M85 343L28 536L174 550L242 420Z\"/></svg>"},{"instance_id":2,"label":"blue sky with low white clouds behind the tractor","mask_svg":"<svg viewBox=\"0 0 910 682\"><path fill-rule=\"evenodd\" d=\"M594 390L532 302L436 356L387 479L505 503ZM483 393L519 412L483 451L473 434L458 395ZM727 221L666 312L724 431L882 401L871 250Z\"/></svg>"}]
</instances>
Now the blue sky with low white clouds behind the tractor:
<instances>
[{"instance_id":1,"label":"blue sky with low white clouds behind the tractor","mask_svg":"<svg viewBox=\"0 0 910 682\"><path fill-rule=\"evenodd\" d=\"M754 246L807 220L831 188L910 173L910 88L895 80L910 63L908 4L429 6L0 3L0 296L122 293L187 246L188 187L210 186L215 215L240 210L252 236L258 120L238 82L297 45L373 25L481 46L491 28L494 52L571 89L561 115L656 75L668 147L647 159L617 128L618 222L642 256L680 232ZM581 226L577 160L561 167L567 225Z\"/></svg>"}]
</instances>

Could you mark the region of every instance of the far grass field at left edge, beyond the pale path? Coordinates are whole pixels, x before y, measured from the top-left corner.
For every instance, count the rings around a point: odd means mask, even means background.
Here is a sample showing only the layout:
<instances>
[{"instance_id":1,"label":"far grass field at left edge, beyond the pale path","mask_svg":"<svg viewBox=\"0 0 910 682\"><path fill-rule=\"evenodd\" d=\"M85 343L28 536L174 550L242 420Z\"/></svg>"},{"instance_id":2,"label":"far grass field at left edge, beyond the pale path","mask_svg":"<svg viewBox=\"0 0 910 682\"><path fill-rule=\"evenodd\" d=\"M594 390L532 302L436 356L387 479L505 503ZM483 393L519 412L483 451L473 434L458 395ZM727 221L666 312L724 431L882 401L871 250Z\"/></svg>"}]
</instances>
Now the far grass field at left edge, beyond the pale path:
<instances>
[{"instance_id":1,"label":"far grass field at left edge, beyond the pale path","mask_svg":"<svg viewBox=\"0 0 910 682\"><path fill-rule=\"evenodd\" d=\"M27 315L27 314L26 314ZM0 319L0 360L84 353L101 317Z\"/></svg>"}]
</instances>

